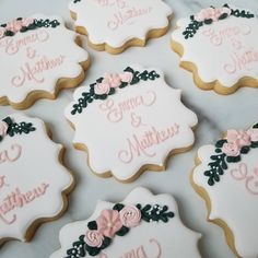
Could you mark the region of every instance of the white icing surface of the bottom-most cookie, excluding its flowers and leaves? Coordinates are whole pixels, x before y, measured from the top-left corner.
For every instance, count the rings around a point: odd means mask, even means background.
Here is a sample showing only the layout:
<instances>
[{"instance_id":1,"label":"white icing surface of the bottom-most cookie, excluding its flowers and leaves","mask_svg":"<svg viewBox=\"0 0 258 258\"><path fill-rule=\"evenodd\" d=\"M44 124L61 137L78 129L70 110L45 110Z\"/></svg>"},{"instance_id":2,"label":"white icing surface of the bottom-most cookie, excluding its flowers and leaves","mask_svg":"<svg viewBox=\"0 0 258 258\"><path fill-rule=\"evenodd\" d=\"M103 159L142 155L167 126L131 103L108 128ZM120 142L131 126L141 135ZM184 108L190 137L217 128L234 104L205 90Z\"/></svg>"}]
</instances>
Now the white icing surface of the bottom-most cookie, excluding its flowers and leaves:
<instances>
[{"instance_id":1,"label":"white icing surface of the bottom-most cookie, excluding its flowers and leaves","mask_svg":"<svg viewBox=\"0 0 258 258\"><path fill-rule=\"evenodd\" d=\"M141 221L140 224L125 236L115 236L112 245L105 248L97 258L127 258L127 257L200 257L197 242L201 237L186 227L178 214L178 208L174 198L169 195L153 196L145 188L136 188L121 202L124 204L161 204L167 206L175 213L167 223ZM85 235L87 222L95 220L104 209L112 209L114 203L98 201L93 215L85 221L77 221L66 225L59 235L61 249L54 253L50 258L67 257L67 250L72 247L80 235ZM140 253L141 250L141 253ZM104 255L105 254L105 255ZM144 255L143 255L144 254ZM89 255L86 255L87 257ZM89 256L90 257L90 256Z\"/></svg>"}]
</instances>

